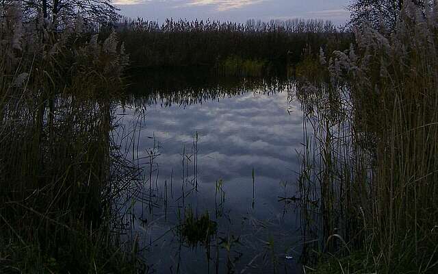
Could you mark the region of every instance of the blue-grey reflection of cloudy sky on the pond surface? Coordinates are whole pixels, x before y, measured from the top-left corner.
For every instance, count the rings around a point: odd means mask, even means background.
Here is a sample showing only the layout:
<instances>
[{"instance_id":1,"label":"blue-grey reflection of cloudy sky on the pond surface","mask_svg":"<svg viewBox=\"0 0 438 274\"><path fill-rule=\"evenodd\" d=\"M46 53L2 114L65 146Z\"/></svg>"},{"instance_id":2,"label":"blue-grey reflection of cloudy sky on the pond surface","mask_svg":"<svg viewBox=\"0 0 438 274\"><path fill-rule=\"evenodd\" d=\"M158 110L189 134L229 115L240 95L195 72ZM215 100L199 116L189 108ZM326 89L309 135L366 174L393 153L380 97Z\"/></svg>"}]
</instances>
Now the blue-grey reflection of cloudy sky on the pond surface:
<instances>
[{"instance_id":1,"label":"blue-grey reflection of cloudy sky on the pond surface","mask_svg":"<svg viewBox=\"0 0 438 274\"><path fill-rule=\"evenodd\" d=\"M215 95L216 96L216 95ZM213 96L213 97L215 97ZM215 97L216 98L216 97ZM219 98L219 97L218 97ZM141 101L141 100L140 100ZM144 99L145 102L153 100ZM164 105L168 105L164 107ZM146 116L142 121L138 153L140 158L147 157L147 151L159 143L159 156L154 161L157 178L154 199L158 208L149 213L144 204L136 204L136 216L148 219L147 227L137 225L138 232L144 237L143 245L158 240L157 246L149 249L146 257L153 262L159 273L162 269L176 264L175 256L182 256L184 264L178 264L182 273L206 273L205 251L183 249L177 245L175 235L163 234L179 223L177 209L186 210L189 206L201 214L208 210L218 222L219 235L241 236L245 245L236 247L235 252L243 255L237 263L237 269L244 269L260 250L263 241L274 236L276 252L299 248L296 246L300 234L298 215L293 208L285 208L279 197L295 194L294 183L298 171L296 151L302 148L302 112L297 101L290 100L285 90L272 92L254 92L248 90L233 97L207 100L189 105L169 105L161 103L146 104ZM138 105L137 105L138 107ZM117 110L123 116L123 123L129 127L137 121L133 110ZM181 199L182 151L193 153L194 134L198 133L198 191L190 192L190 183L185 184L185 204ZM188 156L193 161L194 156ZM187 166L187 159L185 164ZM147 162L147 159L144 159ZM147 165L145 165L147 166ZM253 202L252 171L255 171L255 204ZM184 171L188 177L194 175L192 162ZM148 177L148 169L145 175ZM164 181L175 192L169 202L169 212L163 212ZM225 216L214 216L217 206L216 182L222 179L226 202ZM155 184L155 181L153 181ZM287 182L287 183L286 183ZM285 184L287 184L285 188ZM149 184L146 184L149 186ZM168 194L170 195L170 194ZM255 223L263 224L261 226ZM224 251L220 251L223 253ZM167 254L171 254L169 258ZM165 255L165 256L164 256ZM224 256L222 254L222 256ZM284 258L284 256L283 256ZM196 262L198 269L192 269ZM253 261L265 273L260 260ZM296 262L295 262L296 263ZM202 267L201 267L202 266ZM224 267L224 265L220 266ZM201 270L202 269L202 270ZM168 269L167 269L168 270ZM222 273L222 272L220 272Z\"/></svg>"}]
</instances>

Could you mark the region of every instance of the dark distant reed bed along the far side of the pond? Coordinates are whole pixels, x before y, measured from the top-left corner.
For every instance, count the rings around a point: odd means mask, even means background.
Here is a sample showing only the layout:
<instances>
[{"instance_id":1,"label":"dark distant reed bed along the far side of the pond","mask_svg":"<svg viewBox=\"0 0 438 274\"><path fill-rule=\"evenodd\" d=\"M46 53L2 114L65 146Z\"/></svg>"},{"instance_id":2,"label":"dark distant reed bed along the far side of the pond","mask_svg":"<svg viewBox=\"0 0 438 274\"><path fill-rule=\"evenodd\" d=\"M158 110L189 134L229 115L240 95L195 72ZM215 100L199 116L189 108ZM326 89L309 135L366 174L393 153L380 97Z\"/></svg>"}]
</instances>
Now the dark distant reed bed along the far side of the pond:
<instances>
[{"instance_id":1,"label":"dark distant reed bed along the far side of the pond","mask_svg":"<svg viewBox=\"0 0 438 274\"><path fill-rule=\"evenodd\" d=\"M201 65L222 75L241 75L245 66L248 75L259 75L262 62L296 64L306 47L311 47L313 53L318 53L320 47L346 49L352 38L329 21L301 19L269 23L167 19L160 25L138 18L124 19L117 26L134 66ZM239 60L242 65L235 73L220 69ZM216 70L215 65L219 66Z\"/></svg>"}]
</instances>

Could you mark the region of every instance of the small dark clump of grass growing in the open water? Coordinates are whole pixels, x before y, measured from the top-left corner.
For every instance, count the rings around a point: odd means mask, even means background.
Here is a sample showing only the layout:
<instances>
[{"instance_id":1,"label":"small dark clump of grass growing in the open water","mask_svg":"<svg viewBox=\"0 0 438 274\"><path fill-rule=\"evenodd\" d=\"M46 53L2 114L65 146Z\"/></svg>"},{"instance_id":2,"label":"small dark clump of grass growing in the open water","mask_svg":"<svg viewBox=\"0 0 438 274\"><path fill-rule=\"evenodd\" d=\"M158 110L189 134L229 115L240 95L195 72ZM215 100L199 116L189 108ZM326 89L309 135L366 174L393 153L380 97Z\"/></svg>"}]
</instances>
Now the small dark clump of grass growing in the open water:
<instances>
[{"instance_id":1,"label":"small dark clump of grass growing in the open water","mask_svg":"<svg viewBox=\"0 0 438 274\"><path fill-rule=\"evenodd\" d=\"M192 208L185 210L180 233L188 245L192 247L196 247L198 243L209 245L209 242L216 234L217 229L217 223L211 221L208 212L201 214L201 216L195 216Z\"/></svg>"}]
</instances>

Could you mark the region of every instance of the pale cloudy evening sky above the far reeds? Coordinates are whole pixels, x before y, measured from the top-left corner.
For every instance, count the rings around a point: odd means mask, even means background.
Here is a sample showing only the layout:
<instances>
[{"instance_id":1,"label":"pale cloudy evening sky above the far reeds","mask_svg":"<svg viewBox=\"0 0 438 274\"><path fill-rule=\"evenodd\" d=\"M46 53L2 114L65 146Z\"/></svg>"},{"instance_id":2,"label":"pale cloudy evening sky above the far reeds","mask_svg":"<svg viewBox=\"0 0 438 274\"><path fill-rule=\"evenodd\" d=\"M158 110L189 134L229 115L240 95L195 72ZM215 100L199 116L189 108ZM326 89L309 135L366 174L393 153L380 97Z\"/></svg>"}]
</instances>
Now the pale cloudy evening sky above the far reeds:
<instances>
[{"instance_id":1,"label":"pale cloudy evening sky above the far reeds","mask_svg":"<svg viewBox=\"0 0 438 274\"><path fill-rule=\"evenodd\" d=\"M194 18L243 23L248 19L270 21L320 18L346 23L350 0L114 0L120 13L163 22L166 18Z\"/></svg>"}]
</instances>

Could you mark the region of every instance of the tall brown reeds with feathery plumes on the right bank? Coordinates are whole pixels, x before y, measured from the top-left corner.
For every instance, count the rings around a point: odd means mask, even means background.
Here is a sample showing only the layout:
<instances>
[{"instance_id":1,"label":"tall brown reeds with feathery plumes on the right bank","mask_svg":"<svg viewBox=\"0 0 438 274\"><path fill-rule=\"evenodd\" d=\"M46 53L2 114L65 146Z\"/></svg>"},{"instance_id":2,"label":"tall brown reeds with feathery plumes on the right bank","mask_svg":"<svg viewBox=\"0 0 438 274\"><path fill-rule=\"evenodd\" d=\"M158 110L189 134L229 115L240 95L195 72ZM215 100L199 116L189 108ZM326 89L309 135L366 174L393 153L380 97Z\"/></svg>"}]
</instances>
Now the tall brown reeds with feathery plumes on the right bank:
<instances>
[{"instance_id":1,"label":"tall brown reeds with feathery plumes on the right bank","mask_svg":"<svg viewBox=\"0 0 438 274\"><path fill-rule=\"evenodd\" d=\"M404 1L394 32L363 25L298 85L305 251L329 254L307 256L315 273L438 271L437 10Z\"/></svg>"}]
</instances>

